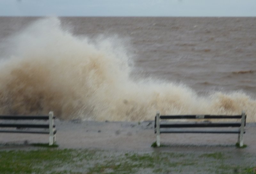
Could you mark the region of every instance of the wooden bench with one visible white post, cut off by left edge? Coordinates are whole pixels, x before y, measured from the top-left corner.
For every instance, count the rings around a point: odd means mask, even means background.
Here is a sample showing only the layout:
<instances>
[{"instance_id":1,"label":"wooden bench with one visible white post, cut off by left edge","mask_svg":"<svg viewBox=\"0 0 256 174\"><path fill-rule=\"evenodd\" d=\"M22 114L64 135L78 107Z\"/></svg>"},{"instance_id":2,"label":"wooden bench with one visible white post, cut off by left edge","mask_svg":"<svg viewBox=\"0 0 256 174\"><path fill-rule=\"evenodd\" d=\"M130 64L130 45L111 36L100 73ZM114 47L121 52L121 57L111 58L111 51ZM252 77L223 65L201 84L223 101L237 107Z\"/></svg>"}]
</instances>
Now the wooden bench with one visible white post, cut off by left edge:
<instances>
[{"instance_id":1,"label":"wooden bench with one visible white post, cut off by left edge","mask_svg":"<svg viewBox=\"0 0 256 174\"><path fill-rule=\"evenodd\" d=\"M43 116L0 115L0 132L49 134L49 145L56 141L53 112ZM47 122L47 124L43 124Z\"/></svg>"}]
</instances>

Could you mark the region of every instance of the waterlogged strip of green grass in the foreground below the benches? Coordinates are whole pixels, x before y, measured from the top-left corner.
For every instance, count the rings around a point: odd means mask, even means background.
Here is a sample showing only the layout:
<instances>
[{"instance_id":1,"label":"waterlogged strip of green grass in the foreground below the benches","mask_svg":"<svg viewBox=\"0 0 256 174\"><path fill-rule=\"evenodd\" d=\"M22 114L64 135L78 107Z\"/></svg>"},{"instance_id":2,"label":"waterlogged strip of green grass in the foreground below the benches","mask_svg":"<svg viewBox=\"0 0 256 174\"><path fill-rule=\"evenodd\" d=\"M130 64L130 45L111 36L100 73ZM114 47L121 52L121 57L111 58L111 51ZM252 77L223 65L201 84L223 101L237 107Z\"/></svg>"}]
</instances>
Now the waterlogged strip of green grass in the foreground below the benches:
<instances>
[{"instance_id":1,"label":"waterlogged strip of green grass in the foreground below the benches","mask_svg":"<svg viewBox=\"0 0 256 174\"><path fill-rule=\"evenodd\" d=\"M246 156L244 156L244 159ZM103 150L43 148L0 151L1 174L255 174L250 157L232 161L229 153L123 153ZM241 163L241 161L243 163Z\"/></svg>"}]
</instances>

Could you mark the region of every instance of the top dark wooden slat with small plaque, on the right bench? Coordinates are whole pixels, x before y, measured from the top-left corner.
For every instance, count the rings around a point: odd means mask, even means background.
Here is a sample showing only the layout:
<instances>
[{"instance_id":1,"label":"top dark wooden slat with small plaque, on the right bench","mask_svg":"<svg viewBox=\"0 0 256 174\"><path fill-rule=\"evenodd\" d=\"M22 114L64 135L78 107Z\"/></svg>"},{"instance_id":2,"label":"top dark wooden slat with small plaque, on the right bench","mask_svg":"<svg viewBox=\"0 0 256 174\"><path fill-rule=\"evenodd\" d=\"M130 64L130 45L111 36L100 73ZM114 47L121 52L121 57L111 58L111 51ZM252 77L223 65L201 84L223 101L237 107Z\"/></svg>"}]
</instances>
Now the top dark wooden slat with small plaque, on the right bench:
<instances>
[{"instance_id":1,"label":"top dark wooden slat with small plaque, on the right bench","mask_svg":"<svg viewBox=\"0 0 256 174\"><path fill-rule=\"evenodd\" d=\"M160 119L196 119L197 116L204 116L204 118L202 119L213 119L213 118L217 118L217 119L228 119L228 118L242 118L241 115L161 115Z\"/></svg>"}]
</instances>

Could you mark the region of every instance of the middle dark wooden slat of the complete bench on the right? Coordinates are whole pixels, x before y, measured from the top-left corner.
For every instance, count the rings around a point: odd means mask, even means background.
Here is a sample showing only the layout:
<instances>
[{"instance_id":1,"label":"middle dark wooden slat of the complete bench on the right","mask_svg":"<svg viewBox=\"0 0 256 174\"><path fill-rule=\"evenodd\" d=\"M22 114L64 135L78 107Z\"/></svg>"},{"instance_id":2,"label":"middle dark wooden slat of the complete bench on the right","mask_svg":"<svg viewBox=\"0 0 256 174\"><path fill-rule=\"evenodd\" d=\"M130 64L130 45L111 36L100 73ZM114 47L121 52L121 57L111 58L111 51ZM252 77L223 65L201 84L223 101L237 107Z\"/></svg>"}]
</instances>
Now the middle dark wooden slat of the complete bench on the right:
<instances>
[{"instance_id":1,"label":"middle dark wooden slat of the complete bench on the right","mask_svg":"<svg viewBox=\"0 0 256 174\"><path fill-rule=\"evenodd\" d=\"M240 127L241 123L189 123L189 124L160 124L160 128L170 127Z\"/></svg>"}]
</instances>

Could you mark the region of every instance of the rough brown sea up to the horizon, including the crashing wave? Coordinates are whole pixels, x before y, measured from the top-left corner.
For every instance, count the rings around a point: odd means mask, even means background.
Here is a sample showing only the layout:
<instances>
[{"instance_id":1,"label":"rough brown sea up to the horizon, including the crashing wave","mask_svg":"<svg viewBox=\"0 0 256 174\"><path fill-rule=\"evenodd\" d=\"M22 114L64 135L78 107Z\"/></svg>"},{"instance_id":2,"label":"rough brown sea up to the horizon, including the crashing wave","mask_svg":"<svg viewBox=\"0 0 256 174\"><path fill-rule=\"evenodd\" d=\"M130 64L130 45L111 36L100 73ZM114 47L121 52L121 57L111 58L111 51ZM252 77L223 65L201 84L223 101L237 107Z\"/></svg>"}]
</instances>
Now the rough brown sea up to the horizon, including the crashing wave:
<instances>
[{"instance_id":1,"label":"rough brown sea up to the horizon, including the crashing wave","mask_svg":"<svg viewBox=\"0 0 256 174\"><path fill-rule=\"evenodd\" d=\"M0 114L256 122L255 17L0 17Z\"/></svg>"}]
</instances>

